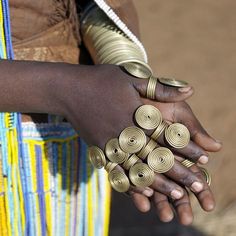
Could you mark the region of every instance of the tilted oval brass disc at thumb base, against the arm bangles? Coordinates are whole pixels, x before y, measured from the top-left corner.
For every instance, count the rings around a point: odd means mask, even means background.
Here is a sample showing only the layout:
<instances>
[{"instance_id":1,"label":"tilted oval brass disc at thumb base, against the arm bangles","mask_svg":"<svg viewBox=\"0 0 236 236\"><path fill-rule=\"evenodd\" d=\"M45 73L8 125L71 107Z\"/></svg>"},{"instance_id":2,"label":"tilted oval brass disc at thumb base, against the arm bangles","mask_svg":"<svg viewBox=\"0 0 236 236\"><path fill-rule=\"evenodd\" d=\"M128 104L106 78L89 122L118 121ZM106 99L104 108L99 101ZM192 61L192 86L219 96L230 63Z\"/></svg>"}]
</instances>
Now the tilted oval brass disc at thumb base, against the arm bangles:
<instances>
[{"instance_id":1,"label":"tilted oval brass disc at thumb base, against the arm bangles","mask_svg":"<svg viewBox=\"0 0 236 236\"><path fill-rule=\"evenodd\" d=\"M138 63L125 63L123 67L129 74L140 79L148 79L152 75L151 70Z\"/></svg>"}]
</instances>

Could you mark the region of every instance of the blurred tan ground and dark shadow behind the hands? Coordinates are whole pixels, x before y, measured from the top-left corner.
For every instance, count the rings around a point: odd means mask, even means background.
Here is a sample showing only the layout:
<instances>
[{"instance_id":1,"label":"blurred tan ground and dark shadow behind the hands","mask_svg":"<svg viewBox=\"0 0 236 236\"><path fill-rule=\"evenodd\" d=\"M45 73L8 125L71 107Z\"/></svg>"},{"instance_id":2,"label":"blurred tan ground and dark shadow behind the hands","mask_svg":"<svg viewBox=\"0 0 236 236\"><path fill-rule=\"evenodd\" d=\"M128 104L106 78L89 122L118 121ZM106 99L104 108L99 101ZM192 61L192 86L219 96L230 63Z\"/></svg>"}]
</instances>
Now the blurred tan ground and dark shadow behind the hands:
<instances>
[{"instance_id":1,"label":"blurred tan ground and dark shadow behind the hands","mask_svg":"<svg viewBox=\"0 0 236 236\"><path fill-rule=\"evenodd\" d=\"M236 235L236 1L135 0L142 42L156 75L189 81L189 100L208 132L224 144L208 169L217 208L204 213L193 199L193 227L162 224L114 194L111 236ZM126 214L124 214L124 209ZM124 229L125 227L125 229ZM123 229L122 229L123 228Z\"/></svg>"}]
</instances>

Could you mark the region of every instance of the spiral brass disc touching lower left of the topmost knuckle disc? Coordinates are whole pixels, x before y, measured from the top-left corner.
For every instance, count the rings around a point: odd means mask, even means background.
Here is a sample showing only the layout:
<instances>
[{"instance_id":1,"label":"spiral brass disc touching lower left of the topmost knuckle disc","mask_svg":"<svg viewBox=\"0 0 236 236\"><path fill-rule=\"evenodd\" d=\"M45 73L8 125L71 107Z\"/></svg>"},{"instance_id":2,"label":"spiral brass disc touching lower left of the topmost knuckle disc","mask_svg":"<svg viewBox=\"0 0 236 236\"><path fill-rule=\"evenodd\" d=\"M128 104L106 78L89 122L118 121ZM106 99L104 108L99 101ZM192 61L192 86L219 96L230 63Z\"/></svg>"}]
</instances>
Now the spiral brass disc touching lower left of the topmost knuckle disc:
<instances>
[{"instance_id":1,"label":"spiral brass disc touching lower left of the topmost knuckle disc","mask_svg":"<svg viewBox=\"0 0 236 236\"><path fill-rule=\"evenodd\" d=\"M136 126L127 127L119 136L119 144L124 152L137 153L146 144L146 135Z\"/></svg>"}]
</instances>

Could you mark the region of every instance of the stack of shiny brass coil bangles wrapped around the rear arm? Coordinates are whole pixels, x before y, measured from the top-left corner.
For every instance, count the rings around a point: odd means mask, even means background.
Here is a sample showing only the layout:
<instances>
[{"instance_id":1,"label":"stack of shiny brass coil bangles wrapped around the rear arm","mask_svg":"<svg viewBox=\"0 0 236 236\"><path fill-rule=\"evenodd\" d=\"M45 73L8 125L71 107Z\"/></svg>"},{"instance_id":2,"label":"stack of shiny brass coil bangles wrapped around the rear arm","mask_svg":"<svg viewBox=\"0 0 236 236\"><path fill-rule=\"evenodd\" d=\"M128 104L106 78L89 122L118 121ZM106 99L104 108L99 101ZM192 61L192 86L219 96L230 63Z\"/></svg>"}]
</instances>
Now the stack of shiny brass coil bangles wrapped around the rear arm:
<instances>
[{"instance_id":1,"label":"stack of shiny brass coil bangles wrapped around the rear arm","mask_svg":"<svg viewBox=\"0 0 236 236\"><path fill-rule=\"evenodd\" d=\"M141 49L96 5L82 16L83 41L96 64L126 64L137 77L149 78L151 68Z\"/></svg>"}]
</instances>

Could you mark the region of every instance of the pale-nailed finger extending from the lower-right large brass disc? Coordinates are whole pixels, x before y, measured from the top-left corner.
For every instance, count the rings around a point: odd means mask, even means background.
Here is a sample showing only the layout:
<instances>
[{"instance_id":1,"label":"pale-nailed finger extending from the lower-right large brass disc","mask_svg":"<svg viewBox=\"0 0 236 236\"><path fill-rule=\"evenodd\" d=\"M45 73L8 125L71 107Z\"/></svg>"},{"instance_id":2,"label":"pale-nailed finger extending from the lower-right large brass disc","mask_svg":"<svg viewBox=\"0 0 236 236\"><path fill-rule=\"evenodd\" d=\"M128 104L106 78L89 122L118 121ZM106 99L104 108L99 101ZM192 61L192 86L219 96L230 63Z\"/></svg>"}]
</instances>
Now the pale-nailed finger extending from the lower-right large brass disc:
<instances>
[{"instance_id":1,"label":"pale-nailed finger extending from the lower-right large brass disc","mask_svg":"<svg viewBox=\"0 0 236 236\"><path fill-rule=\"evenodd\" d=\"M190 188L194 193L203 191L202 178L176 160L174 166L165 175L175 182Z\"/></svg>"}]
</instances>

